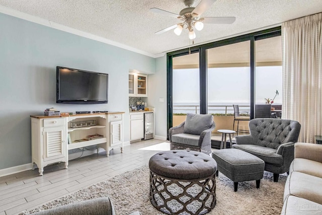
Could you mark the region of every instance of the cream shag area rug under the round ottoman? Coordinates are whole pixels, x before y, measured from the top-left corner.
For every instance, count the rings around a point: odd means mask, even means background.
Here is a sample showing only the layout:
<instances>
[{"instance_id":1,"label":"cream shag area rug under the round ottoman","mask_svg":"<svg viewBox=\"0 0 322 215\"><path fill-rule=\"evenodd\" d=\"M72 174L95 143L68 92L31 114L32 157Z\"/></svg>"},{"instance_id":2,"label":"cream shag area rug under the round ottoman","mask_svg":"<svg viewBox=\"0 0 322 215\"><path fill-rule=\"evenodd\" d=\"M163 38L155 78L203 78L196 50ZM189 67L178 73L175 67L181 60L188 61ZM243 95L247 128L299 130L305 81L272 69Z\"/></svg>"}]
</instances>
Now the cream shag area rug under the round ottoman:
<instances>
[{"instance_id":1,"label":"cream shag area rug under the round ottoman","mask_svg":"<svg viewBox=\"0 0 322 215\"><path fill-rule=\"evenodd\" d=\"M216 206L208 214L280 214L283 206L283 193L286 176L280 175L278 182L273 182L273 173L264 172L260 188L255 181L238 183L237 192L233 191L233 182L219 172L216 177ZM164 214L156 210L149 201L149 169L142 166L125 172L88 188L57 198L40 207L20 214L109 196L116 214L128 214L140 211L142 214Z\"/></svg>"}]
</instances>

